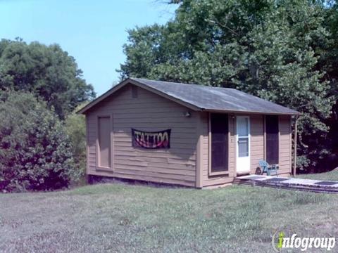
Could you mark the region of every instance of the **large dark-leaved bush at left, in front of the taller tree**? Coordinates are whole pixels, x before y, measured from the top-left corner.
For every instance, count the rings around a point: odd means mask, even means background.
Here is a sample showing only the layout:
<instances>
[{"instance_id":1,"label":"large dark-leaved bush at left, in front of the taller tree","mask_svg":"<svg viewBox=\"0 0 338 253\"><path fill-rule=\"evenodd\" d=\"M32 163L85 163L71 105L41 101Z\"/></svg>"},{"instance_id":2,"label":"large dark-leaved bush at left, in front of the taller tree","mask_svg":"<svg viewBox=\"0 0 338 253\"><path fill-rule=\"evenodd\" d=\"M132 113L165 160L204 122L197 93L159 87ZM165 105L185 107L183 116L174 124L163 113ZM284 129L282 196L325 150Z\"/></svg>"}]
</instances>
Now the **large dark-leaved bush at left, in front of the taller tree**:
<instances>
[{"instance_id":1,"label":"large dark-leaved bush at left, in front of the taller tree","mask_svg":"<svg viewBox=\"0 0 338 253\"><path fill-rule=\"evenodd\" d=\"M76 181L70 139L31 93L0 93L0 190L52 190Z\"/></svg>"}]
</instances>

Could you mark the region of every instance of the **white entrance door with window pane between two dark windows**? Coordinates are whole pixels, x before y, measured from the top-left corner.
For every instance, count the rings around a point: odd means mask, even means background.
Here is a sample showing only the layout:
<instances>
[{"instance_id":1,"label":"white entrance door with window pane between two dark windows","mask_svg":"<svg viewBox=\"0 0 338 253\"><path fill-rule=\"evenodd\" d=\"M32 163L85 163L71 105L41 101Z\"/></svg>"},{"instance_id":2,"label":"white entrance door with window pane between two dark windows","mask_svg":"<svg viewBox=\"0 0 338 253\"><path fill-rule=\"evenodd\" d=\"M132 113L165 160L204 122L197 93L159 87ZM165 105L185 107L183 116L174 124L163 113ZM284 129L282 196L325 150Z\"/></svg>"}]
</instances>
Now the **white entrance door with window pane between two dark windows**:
<instances>
[{"instance_id":1,"label":"white entrance door with window pane between two dark windows","mask_svg":"<svg viewBox=\"0 0 338 253\"><path fill-rule=\"evenodd\" d=\"M248 116L237 116L237 173L250 171L250 120Z\"/></svg>"}]
</instances>

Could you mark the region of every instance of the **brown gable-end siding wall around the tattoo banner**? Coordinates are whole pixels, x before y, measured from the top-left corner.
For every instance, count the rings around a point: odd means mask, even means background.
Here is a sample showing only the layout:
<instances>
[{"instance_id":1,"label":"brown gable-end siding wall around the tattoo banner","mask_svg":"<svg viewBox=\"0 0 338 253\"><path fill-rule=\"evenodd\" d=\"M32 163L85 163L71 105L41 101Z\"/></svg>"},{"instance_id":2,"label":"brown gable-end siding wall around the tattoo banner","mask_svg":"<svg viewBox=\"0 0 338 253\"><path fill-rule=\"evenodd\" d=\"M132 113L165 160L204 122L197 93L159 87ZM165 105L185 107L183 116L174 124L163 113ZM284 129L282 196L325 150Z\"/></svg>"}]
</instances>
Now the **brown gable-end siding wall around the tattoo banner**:
<instances>
[{"instance_id":1,"label":"brown gable-end siding wall around the tattoo banner","mask_svg":"<svg viewBox=\"0 0 338 253\"><path fill-rule=\"evenodd\" d=\"M190 111L192 116L184 117L189 109L182 105L142 88L137 95L132 98L131 85L126 85L87 113L87 174L195 186L198 112ZM96 167L99 115L112 117L111 169ZM132 147L131 128L171 129L170 148Z\"/></svg>"}]
</instances>

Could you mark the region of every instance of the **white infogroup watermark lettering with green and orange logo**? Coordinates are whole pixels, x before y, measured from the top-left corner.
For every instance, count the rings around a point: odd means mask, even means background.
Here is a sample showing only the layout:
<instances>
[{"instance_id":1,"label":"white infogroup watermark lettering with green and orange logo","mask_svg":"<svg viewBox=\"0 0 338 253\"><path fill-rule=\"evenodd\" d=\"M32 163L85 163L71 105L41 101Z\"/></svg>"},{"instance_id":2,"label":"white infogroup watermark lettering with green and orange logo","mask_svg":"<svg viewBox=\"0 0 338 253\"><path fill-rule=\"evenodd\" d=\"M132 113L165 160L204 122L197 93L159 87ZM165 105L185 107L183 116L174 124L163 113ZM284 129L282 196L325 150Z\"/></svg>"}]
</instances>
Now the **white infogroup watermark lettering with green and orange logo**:
<instances>
[{"instance_id":1,"label":"white infogroup watermark lettering with green and orange logo","mask_svg":"<svg viewBox=\"0 0 338 253\"><path fill-rule=\"evenodd\" d=\"M300 237L296 233L287 236L283 231L277 231L273 234L272 244L275 252L282 252L282 249L300 249L302 252L308 249L326 249L330 252L336 245L336 238Z\"/></svg>"}]
</instances>

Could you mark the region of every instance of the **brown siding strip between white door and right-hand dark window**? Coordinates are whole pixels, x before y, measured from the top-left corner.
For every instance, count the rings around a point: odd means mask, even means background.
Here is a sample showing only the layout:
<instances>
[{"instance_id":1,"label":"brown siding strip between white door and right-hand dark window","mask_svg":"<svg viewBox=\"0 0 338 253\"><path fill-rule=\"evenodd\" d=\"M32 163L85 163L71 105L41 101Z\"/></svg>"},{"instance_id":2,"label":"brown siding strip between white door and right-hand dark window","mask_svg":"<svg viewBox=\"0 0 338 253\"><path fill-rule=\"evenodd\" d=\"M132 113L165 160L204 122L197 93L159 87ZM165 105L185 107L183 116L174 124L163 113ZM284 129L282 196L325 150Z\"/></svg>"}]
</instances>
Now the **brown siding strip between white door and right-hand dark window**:
<instances>
[{"instance_id":1,"label":"brown siding strip between white door and right-hand dark window","mask_svg":"<svg viewBox=\"0 0 338 253\"><path fill-rule=\"evenodd\" d=\"M258 162L264 160L264 115L250 115L250 173L255 174Z\"/></svg>"}]
</instances>

